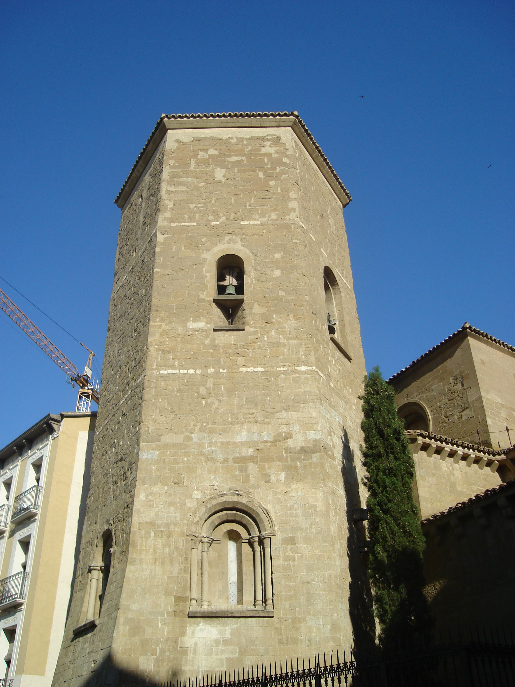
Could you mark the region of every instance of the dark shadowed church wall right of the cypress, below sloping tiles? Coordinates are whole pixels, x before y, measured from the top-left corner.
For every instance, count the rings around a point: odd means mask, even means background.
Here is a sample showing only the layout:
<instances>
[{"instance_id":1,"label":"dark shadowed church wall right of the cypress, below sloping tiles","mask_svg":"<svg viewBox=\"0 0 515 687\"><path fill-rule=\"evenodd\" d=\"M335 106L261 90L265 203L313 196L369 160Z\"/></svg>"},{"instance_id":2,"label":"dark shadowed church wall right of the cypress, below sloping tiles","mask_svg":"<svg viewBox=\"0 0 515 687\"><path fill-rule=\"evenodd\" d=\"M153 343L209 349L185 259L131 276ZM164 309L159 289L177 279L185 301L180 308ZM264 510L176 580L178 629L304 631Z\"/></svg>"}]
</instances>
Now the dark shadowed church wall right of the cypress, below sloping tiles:
<instances>
[{"instance_id":1,"label":"dark shadowed church wall right of the cypress, below sloping tiles","mask_svg":"<svg viewBox=\"0 0 515 687\"><path fill-rule=\"evenodd\" d=\"M436 629L513 627L515 482L423 523L424 576Z\"/></svg>"}]
</instances>

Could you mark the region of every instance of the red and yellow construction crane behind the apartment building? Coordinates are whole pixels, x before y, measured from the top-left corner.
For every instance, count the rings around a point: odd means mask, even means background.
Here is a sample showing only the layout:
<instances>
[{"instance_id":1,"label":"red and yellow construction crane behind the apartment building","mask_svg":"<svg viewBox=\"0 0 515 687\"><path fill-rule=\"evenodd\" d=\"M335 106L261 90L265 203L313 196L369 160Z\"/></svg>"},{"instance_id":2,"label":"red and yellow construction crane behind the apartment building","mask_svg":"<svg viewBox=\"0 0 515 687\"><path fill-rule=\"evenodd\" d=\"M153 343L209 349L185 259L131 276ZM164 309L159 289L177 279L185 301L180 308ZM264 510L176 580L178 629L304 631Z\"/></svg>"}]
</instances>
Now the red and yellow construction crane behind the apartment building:
<instances>
[{"instance_id":1,"label":"red and yellow construction crane behind the apartment building","mask_svg":"<svg viewBox=\"0 0 515 687\"><path fill-rule=\"evenodd\" d=\"M80 345L89 351L86 367L84 368L84 372L80 374L76 366L73 365L69 359L67 359L65 354L62 353L48 337L45 337L41 329L36 327L34 322L32 322L32 319L27 317L27 315L25 315L25 313L23 313L23 311L21 311L20 308L13 303L10 297L3 293L1 289L0 308L6 315L9 315L12 321L15 322L19 328L23 329L25 334L30 336L34 343L38 344L41 350L45 351L47 356L52 358L54 363L59 365L63 372L66 372L71 380L73 388L75 388L75 385L79 387L76 412L89 413L91 401L98 403L100 392L100 383L93 379L93 375L91 373L91 365L93 363L93 356L95 355L93 351L87 346L84 346L84 343L80 343L79 341Z\"/></svg>"}]
</instances>

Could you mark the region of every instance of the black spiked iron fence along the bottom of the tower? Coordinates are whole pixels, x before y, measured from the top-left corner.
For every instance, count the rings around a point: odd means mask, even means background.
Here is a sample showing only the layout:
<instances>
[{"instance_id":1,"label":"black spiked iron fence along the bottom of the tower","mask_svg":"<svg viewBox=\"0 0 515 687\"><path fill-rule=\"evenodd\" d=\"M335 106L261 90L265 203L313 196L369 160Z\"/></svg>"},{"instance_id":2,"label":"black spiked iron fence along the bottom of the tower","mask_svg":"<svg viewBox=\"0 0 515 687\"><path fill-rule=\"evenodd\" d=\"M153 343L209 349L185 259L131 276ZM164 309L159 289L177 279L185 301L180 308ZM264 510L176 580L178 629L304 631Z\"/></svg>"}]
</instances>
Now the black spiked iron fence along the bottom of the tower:
<instances>
[{"instance_id":1,"label":"black spiked iron fence along the bottom of the tower","mask_svg":"<svg viewBox=\"0 0 515 687\"><path fill-rule=\"evenodd\" d=\"M336 652L229 673L163 683L161 687L513 687L515 644L510 631L468 631L396 649Z\"/></svg>"}]
</instances>

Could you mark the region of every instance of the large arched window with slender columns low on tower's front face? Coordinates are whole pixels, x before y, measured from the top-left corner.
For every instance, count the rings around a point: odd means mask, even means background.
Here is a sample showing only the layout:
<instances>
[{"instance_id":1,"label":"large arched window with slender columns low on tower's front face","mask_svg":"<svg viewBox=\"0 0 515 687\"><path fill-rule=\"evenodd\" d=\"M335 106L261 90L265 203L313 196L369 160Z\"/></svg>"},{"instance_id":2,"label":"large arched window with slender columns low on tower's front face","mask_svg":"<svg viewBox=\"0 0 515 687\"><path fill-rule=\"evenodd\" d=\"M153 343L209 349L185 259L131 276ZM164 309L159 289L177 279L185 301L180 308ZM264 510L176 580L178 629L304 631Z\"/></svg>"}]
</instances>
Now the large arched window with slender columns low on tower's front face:
<instances>
[{"instance_id":1,"label":"large arched window with slender columns low on tower's front face","mask_svg":"<svg viewBox=\"0 0 515 687\"><path fill-rule=\"evenodd\" d=\"M188 616L273 616L268 511L241 493L207 499L190 519Z\"/></svg>"}]
</instances>

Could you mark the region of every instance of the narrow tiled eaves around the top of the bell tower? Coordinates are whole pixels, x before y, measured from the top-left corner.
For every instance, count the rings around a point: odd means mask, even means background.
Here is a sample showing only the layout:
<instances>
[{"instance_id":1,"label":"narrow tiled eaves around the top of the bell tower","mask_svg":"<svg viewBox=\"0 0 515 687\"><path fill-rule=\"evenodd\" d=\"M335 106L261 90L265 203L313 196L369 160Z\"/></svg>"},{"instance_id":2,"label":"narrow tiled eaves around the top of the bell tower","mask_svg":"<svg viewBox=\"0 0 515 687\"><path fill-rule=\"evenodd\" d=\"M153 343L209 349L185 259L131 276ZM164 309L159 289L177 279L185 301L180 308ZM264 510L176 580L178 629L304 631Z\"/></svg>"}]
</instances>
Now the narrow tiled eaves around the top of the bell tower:
<instances>
[{"instance_id":1,"label":"narrow tiled eaves around the top of the bell tower","mask_svg":"<svg viewBox=\"0 0 515 687\"><path fill-rule=\"evenodd\" d=\"M132 169L128 173L128 176L127 176L126 180L124 181L122 188L120 189L118 195L116 196L116 198L115 198L116 205L118 205L118 207L120 207L120 208L124 207L127 198L124 198L124 202L122 202L122 203L120 203L120 201L122 200L123 196L126 196L125 191L126 191L128 185L130 183L130 180L133 178L133 176L137 170L137 167L139 166L141 160L144 158L145 153L150 148L152 141L155 139L157 132L159 131L159 128L161 127L161 124L163 124L163 122L165 122L165 120L222 120L222 119L250 119L250 118L265 119L268 117L275 119L275 120L280 120L281 118L288 118L288 119L293 119L293 120L295 120L295 122L297 122L302 133L304 133L304 135L306 135L306 138L308 139L310 144L312 144L314 150L316 150L317 154L321 157L323 164L325 165L325 167L330 172L330 175L334 179L334 181L336 182L336 185L339 187L341 192L343 192L343 196L345 196L345 198L347 199L346 203L343 203L343 201L342 201L343 206L345 207L345 205L350 203L350 201L352 201L352 196L350 195L350 193L345 188L345 185L343 185L343 181L341 181L338 174L336 174L334 168L330 164L330 161L323 154L322 149L320 148L319 144L317 144L317 142L315 141L314 137L312 136L312 133L309 131L306 124L303 122L303 120L301 120L301 117L299 117L299 113L297 113L295 111L295 112L222 112L222 113L210 112L210 113L203 113L203 114L198 113L198 114L184 114L184 115L181 115L181 114L178 114L178 115L174 115L174 114L165 115L165 114L163 114L163 115L161 115L161 117L159 117L159 120L157 120L157 123L156 123L155 127L153 128L152 133L148 137L146 144L144 145L143 149L141 150L141 153L139 153L135 163L133 164ZM165 128L163 128L163 136L164 136L164 133L165 133ZM161 139L159 139L158 145L160 142L161 142ZM156 148L157 148L157 146L156 146ZM135 185L136 185L137 181L139 181L140 177L141 177L141 174L135 180Z\"/></svg>"}]
</instances>

